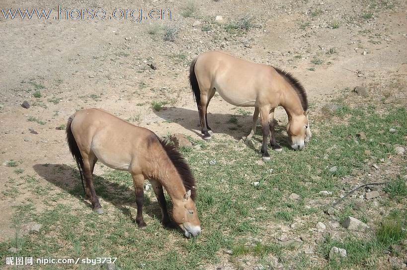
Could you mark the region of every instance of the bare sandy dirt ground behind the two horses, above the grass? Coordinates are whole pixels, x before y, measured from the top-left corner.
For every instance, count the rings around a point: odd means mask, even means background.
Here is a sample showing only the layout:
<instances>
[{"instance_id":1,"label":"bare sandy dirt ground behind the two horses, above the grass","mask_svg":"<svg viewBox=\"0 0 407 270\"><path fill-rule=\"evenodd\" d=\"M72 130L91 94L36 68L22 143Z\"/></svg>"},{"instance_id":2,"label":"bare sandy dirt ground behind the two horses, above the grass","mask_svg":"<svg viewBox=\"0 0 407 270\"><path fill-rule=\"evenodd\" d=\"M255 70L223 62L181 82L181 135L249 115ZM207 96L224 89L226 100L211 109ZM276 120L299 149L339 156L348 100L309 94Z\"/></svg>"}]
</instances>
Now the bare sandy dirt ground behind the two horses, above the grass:
<instances>
[{"instance_id":1,"label":"bare sandy dirt ground behind the two horses, above the grass","mask_svg":"<svg viewBox=\"0 0 407 270\"><path fill-rule=\"evenodd\" d=\"M0 6L55 9L58 3L3 0ZM160 136L184 133L200 138L188 70L190 61L205 51L223 50L292 72L307 90L311 123L313 109L342 93L355 95L356 86L367 86L372 99L391 97L405 104L406 87L393 87L407 83L405 1L203 0L196 2L193 16L184 17L181 13L188 4L173 0L63 3L66 9L143 7L172 11L171 21L141 23L10 20L0 14L0 241L13 237L13 206L29 196L10 198L2 193L7 189L6 181L18 177L15 168L5 163L16 161L26 175L37 175L33 166L38 163L73 164L65 131L57 127L63 127L75 110L104 108ZM225 25L245 13L254 19L248 31L225 30ZM216 22L216 16L223 20ZM196 21L200 24L195 25ZM179 32L173 42L164 41L165 30L153 33L155 25L176 26ZM152 62L157 70L149 66ZM41 97L35 97L37 91ZM31 107L22 108L23 101ZM168 104L155 111L152 101ZM240 140L249 130L250 116L240 121L242 127L237 130L224 124L236 108L218 95L208 112L216 136ZM29 121L33 117L36 119ZM282 108L276 118L287 121Z\"/></svg>"}]
</instances>

